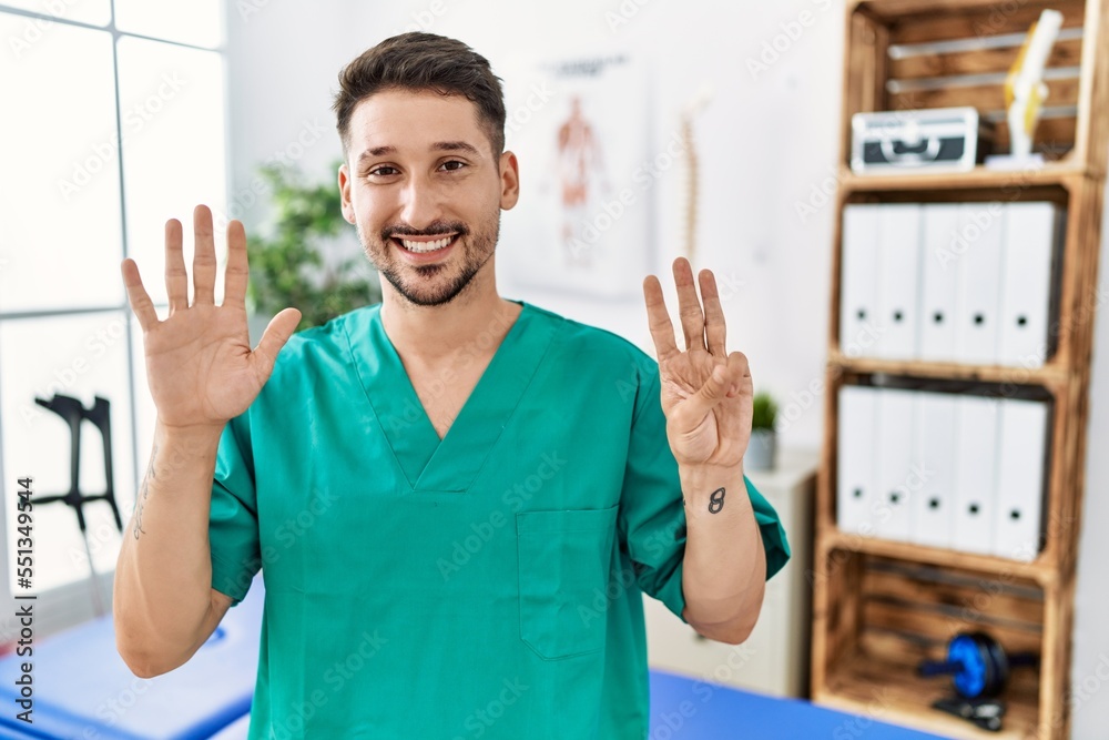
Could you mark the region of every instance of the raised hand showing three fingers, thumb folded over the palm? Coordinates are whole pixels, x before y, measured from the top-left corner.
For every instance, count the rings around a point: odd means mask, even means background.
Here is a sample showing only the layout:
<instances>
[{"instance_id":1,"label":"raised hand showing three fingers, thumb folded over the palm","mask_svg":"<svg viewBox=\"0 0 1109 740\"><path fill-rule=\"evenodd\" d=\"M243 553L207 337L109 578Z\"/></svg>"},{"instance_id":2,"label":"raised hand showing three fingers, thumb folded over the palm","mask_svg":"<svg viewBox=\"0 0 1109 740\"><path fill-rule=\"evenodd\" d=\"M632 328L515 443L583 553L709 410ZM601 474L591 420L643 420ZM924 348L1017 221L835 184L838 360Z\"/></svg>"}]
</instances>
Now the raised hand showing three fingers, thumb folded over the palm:
<instances>
[{"instance_id":1,"label":"raised hand showing three fingers, thumb folded over the palm","mask_svg":"<svg viewBox=\"0 0 1109 740\"><path fill-rule=\"evenodd\" d=\"M659 278L643 281L670 449L679 465L737 467L751 439L754 394L747 358L724 348L724 311L712 272L700 274L703 310L684 257L674 261L674 283L685 352L674 342Z\"/></svg>"}]
</instances>

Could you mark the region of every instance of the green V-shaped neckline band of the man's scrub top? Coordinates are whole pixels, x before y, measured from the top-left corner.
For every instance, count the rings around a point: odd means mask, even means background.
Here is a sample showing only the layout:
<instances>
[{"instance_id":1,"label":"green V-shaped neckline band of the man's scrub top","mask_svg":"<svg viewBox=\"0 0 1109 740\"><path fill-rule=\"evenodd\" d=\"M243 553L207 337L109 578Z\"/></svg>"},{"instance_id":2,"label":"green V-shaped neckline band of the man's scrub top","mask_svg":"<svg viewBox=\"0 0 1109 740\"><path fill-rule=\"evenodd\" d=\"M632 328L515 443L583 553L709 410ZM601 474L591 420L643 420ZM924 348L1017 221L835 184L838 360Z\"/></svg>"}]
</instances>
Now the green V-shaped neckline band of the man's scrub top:
<instances>
[{"instance_id":1,"label":"green V-shaped neckline band of the man's scrub top","mask_svg":"<svg viewBox=\"0 0 1109 740\"><path fill-rule=\"evenodd\" d=\"M413 490L465 493L508 424L554 336L554 322L522 301L516 322L440 440L381 324L380 304L345 324L362 386Z\"/></svg>"}]
</instances>

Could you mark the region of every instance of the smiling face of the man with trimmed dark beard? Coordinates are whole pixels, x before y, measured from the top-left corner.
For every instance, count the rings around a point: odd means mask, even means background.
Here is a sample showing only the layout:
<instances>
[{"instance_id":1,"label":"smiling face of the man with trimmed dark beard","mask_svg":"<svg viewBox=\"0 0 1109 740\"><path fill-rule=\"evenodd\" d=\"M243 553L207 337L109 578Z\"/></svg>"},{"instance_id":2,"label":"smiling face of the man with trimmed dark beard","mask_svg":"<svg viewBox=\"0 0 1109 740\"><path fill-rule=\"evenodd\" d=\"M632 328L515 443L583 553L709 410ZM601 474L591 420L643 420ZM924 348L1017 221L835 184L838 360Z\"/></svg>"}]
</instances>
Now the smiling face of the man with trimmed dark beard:
<instances>
[{"instance_id":1,"label":"smiling face of the man with trimmed dark beard","mask_svg":"<svg viewBox=\"0 0 1109 740\"><path fill-rule=\"evenodd\" d=\"M431 91L358 103L338 178L366 254L418 305L445 304L492 270L500 210L519 194L516 156L494 158L477 107Z\"/></svg>"}]
</instances>

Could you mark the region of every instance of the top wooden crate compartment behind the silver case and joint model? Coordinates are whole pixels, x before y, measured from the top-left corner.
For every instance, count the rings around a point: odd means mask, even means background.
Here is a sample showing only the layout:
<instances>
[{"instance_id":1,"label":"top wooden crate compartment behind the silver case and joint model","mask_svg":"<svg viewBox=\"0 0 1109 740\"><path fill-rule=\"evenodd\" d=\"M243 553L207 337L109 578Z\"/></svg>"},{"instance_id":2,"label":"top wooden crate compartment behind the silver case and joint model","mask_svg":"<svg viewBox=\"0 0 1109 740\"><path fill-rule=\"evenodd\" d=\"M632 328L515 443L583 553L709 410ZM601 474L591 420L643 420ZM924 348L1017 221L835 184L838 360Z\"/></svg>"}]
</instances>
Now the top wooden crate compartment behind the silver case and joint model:
<instances>
[{"instance_id":1,"label":"top wooden crate compartment behind the silver case and joint model","mask_svg":"<svg viewBox=\"0 0 1109 740\"><path fill-rule=\"evenodd\" d=\"M1035 148L1103 172L1106 142L1097 132L1103 130L1106 112L1093 104L1109 84L1102 79L1109 62L1096 43L1105 22L1100 0L848 1L844 118L849 122L859 111L974 104L995 121L997 150L1007 150L1005 74L1021 36L1048 7L1062 13L1064 41L1048 59L1052 94L1045 104L1051 115L1045 111ZM981 49L974 43L986 38L995 44ZM843 151L849 151L849 125L843 142Z\"/></svg>"}]
</instances>

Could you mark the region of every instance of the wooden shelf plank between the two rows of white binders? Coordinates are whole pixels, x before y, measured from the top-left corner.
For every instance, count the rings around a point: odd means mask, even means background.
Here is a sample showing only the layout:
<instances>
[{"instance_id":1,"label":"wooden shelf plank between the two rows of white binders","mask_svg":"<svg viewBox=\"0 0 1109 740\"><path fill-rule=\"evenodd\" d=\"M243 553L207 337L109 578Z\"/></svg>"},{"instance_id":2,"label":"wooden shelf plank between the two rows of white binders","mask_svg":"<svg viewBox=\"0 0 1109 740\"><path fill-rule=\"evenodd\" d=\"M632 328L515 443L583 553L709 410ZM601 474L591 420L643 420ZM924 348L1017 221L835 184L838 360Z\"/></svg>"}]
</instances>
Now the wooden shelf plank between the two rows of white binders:
<instances>
[{"instance_id":1,"label":"wooden shelf plank between the two rows of white binders","mask_svg":"<svg viewBox=\"0 0 1109 740\"><path fill-rule=\"evenodd\" d=\"M1039 385L1052 391L1065 387L1071 377L1071 373L1066 367L1051 363L1035 368L1006 365L963 365L958 363L925 363L881 359L876 357L848 357L837 351L828 352L827 363L836 371L847 373L885 373L887 375L952 381L1014 383L1017 385Z\"/></svg>"}]
</instances>

